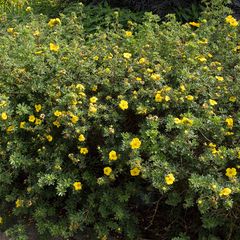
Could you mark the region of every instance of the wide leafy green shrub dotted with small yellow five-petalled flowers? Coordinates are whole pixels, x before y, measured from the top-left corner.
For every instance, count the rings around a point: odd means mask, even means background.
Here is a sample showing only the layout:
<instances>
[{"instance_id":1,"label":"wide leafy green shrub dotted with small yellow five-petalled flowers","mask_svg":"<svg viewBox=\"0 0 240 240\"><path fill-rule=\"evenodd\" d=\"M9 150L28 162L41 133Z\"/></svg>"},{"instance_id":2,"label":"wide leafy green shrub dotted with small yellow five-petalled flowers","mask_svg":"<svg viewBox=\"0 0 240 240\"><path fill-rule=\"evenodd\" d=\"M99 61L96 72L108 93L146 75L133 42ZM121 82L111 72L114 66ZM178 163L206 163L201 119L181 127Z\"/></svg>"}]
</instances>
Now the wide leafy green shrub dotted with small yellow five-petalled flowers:
<instances>
[{"instance_id":1,"label":"wide leafy green shrub dotted with small yellow five-petalled flowers","mask_svg":"<svg viewBox=\"0 0 240 240\"><path fill-rule=\"evenodd\" d=\"M233 239L238 21L213 5L198 22L160 24L147 13L123 29L116 12L89 35L83 6L75 10L2 19L1 227L17 221L13 239L26 239L29 222L51 238L93 229L95 239L136 239L135 206L157 190L161 204L197 208L199 229L221 227Z\"/></svg>"}]
</instances>

